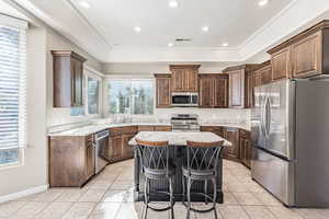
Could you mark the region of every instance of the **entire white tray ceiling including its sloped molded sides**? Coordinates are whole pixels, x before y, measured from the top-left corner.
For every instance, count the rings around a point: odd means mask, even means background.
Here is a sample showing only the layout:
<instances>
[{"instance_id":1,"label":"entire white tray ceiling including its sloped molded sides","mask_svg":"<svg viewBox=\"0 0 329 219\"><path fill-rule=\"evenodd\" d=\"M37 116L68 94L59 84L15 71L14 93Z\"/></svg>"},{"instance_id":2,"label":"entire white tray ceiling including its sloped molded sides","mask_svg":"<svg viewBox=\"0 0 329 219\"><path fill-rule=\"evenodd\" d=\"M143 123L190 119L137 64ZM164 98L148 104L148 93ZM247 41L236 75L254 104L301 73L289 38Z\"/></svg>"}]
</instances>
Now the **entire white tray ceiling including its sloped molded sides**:
<instances>
[{"instance_id":1,"label":"entire white tray ceiling including its sloped molded sides","mask_svg":"<svg viewBox=\"0 0 329 219\"><path fill-rule=\"evenodd\" d=\"M328 0L4 0L102 62L239 62L329 18ZM203 26L208 32L203 32ZM135 26L141 31L136 33ZM175 43L178 37L192 38ZM168 43L174 43L168 47ZM228 43L227 47L223 47Z\"/></svg>"}]
</instances>

